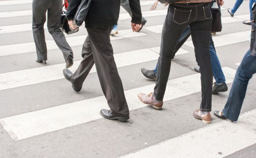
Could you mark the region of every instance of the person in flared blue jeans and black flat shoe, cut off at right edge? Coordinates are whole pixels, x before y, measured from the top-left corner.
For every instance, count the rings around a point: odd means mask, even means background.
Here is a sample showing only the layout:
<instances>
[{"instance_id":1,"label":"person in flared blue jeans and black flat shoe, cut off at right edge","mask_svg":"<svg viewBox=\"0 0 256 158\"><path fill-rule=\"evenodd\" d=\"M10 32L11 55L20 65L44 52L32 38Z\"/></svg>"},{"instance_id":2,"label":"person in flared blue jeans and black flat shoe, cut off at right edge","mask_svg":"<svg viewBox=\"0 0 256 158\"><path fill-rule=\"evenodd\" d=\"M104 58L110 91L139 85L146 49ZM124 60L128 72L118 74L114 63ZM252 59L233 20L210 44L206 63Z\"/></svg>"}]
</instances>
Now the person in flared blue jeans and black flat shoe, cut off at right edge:
<instances>
[{"instance_id":1,"label":"person in flared blue jeans and black flat shoe, cut off at right edge","mask_svg":"<svg viewBox=\"0 0 256 158\"><path fill-rule=\"evenodd\" d=\"M251 48L242 59L237 69L232 88L228 95L225 107L221 111L214 111L214 115L221 119L237 121L246 95L247 86L252 75L256 73L256 3L252 8Z\"/></svg>"}]
</instances>

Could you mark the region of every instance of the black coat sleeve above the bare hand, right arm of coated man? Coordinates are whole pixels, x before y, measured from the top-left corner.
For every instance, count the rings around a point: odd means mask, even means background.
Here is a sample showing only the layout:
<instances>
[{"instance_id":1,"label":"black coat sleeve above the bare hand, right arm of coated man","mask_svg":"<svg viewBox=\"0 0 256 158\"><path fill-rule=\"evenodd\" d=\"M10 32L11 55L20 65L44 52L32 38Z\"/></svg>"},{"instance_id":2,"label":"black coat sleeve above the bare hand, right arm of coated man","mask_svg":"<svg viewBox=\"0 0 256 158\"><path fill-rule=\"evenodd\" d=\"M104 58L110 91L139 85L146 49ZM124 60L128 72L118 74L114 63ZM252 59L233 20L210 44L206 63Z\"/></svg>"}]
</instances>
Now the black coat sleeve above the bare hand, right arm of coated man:
<instances>
[{"instance_id":1,"label":"black coat sleeve above the bare hand, right arm of coated man","mask_svg":"<svg viewBox=\"0 0 256 158\"><path fill-rule=\"evenodd\" d=\"M141 18L142 18L142 13L141 13L141 5L139 0L129 0L129 5L132 10L132 23L138 23L141 24Z\"/></svg>"}]
</instances>

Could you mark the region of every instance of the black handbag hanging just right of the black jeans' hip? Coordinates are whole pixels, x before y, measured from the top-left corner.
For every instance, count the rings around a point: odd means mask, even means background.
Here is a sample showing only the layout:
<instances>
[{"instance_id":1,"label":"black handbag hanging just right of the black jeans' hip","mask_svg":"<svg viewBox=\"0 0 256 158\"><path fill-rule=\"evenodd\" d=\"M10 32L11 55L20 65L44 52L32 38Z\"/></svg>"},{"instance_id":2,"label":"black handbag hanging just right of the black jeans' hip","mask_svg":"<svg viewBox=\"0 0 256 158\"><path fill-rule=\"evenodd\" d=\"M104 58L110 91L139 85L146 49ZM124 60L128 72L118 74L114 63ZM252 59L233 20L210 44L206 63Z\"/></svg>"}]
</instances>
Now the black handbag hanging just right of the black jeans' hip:
<instances>
[{"instance_id":1,"label":"black handbag hanging just right of the black jeans' hip","mask_svg":"<svg viewBox=\"0 0 256 158\"><path fill-rule=\"evenodd\" d=\"M216 2L217 3L217 2ZM221 24L221 9L220 5L217 3L218 8L211 7L212 15L213 15L213 23L211 32L221 32L222 24Z\"/></svg>"}]
</instances>

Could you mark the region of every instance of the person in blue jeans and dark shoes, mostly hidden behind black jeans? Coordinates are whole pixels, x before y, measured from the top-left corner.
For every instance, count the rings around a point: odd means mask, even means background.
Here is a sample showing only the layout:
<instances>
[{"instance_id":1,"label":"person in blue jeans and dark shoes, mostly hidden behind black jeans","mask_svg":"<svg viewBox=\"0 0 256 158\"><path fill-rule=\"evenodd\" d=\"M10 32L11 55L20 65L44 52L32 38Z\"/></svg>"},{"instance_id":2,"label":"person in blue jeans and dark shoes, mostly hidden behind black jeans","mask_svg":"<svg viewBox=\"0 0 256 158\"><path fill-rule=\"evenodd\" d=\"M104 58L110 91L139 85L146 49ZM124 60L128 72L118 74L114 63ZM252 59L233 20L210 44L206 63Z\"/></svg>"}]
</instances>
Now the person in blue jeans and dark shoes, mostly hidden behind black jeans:
<instances>
[{"instance_id":1,"label":"person in blue jeans and dark shoes, mostly hidden behind black jeans","mask_svg":"<svg viewBox=\"0 0 256 158\"><path fill-rule=\"evenodd\" d=\"M185 41L190 37L190 28L187 27L185 30L181 33L181 36L175 45L175 53L180 49L180 47L185 43ZM223 74L220 62L218 60L218 56L214 47L213 38L210 38L210 58L211 58L211 65L213 69L213 77L215 79L215 82L213 83L213 91L212 94L217 94L220 92L226 92L228 91L228 86L226 84L226 79ZM145 68L141 69L142 74L147 77L148 79L156 80L156 74L157 74L157 67L158 62L156 64L156 68L154 70L147 70ZM200 72L199 67L194 68L195 71Z\"/></svg>"}]
</instances>

